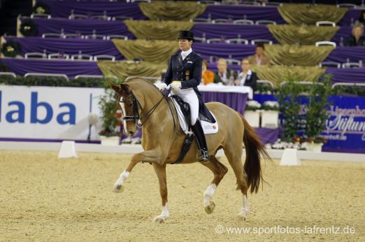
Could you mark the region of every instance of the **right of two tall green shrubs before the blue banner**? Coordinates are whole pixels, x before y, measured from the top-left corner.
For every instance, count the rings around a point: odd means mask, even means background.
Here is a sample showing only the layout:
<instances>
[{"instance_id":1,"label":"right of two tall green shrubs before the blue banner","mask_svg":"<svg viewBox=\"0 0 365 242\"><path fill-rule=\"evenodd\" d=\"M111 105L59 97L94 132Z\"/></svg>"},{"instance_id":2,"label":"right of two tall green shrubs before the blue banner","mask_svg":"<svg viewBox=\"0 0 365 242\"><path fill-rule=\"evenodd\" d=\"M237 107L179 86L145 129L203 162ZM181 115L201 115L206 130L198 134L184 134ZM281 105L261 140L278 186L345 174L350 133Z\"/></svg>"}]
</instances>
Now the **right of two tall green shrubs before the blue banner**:
<instances>
[{"instance_id":1,"label":"right of two tall green shrubs before the blue banner","mask_svg":"<svg viewBox=\"0 0 365 242\"><path fill-rule=\"evenodd\" d=\"M309 95L306 113L306 136L315 138L322 134L326 120L329 118L328 97L331 94L330 76L325 76L322 83L309 85Z\"/></svg>"}]
</instances>

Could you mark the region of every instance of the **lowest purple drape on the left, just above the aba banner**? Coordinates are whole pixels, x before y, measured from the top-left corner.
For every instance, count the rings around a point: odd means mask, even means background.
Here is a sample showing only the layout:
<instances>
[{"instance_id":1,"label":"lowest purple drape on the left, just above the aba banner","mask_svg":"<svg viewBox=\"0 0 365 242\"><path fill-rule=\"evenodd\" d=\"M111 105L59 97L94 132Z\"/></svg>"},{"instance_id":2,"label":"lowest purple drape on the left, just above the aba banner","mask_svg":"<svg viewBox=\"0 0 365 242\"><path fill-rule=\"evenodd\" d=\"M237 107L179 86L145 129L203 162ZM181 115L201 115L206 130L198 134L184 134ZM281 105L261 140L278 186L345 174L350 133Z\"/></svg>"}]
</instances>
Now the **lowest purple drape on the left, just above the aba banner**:
<instances>
[{"instance_id":1,"label":"lowest purple drape on the left, just above the aba banner","mask_svg":"<svg viewBox=\"0 0 365 242\"><path fill-rule=\"evenodd\" d=\"M36 73L59 73L66 74L70 78L77 75L102 75L97 62L79 62L62 60L38 60L38 59L15 59L2 58L3 64L8 66L9 71L17 75L28 72Z\"/></svg>"}]
</instances>

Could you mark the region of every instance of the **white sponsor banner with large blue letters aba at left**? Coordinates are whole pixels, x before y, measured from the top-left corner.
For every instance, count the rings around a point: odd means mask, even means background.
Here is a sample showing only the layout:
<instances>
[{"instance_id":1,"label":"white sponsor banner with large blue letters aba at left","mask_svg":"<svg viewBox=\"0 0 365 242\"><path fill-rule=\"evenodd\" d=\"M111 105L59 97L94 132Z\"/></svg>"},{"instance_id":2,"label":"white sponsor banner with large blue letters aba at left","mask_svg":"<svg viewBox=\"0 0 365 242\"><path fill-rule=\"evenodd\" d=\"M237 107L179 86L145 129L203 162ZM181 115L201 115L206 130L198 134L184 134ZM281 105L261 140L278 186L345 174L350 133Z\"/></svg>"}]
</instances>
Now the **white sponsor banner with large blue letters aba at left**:
<instances>
[{"instance_id":1,"label":"white sponsor banner with large blue letters aba at left","mask_svg":"<svg viewBox=\"0 0 365 242\"><path fill-rule=\"evenodd\" d=\"M102 88L0 85L0 138L87 140ZM91 140L99 139L99 125Z\"/></svg>"}]
</instances>

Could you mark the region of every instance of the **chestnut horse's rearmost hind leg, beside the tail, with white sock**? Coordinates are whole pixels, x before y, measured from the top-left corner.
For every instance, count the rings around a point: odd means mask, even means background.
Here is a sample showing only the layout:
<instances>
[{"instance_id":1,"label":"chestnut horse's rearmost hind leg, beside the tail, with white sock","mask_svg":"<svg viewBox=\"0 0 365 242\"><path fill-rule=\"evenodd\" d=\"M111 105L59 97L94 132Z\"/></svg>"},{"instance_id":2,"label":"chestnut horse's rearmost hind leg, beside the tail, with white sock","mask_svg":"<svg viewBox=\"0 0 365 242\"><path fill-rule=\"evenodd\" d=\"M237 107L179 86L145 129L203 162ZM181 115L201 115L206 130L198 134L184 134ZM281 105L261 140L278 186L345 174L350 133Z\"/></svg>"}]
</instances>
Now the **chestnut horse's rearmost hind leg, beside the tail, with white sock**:
<instances>
[{"instance_id":1,"label":"chestnut horse's rearmost hind leg, beside the tail, with white sock","mask_svg":"<svg viewBox=\"0 0 365 242\"><path fill-rule=\"evenodd\" d=\"M228 159L229 164L232 166L234 170L234 174L237 179L237 190L241 190L243 205L241 211L237 214L238 218L245 218L249 212L248 209L248 200L247 200L247 191L248 191L248 183L247 183L247 175L245 171L243 171L242 164L242 149L239 148L237 150L224 150L224 153Z\"/></svg>"}]
</instances>

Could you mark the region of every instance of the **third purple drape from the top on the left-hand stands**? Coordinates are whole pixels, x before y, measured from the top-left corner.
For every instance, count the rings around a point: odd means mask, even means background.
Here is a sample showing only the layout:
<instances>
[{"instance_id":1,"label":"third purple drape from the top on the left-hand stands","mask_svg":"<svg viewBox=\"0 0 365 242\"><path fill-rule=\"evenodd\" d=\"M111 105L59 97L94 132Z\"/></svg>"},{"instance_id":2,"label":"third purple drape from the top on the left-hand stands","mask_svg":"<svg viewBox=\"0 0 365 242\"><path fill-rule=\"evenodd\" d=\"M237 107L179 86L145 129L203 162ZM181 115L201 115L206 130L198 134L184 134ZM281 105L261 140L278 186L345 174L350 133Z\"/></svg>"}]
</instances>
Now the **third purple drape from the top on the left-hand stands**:
<instances>
[{"instance_id":1,"label":"third purple drape from the top on the left-hand stands","mask_svg":"<svg viewBox=\"0 0 365 242\"><path fill-rule=\"evenodd\" d=\"M87 55L113 55L115 59L124 59L112 41L41 37L6 37L6 41L20 43L20 55L22 56L27 52L43 52L43 50L47 50L48 54L64 52L68 55L76 55L81 50L83 54Z\"/></svg>"}]
</instances>

